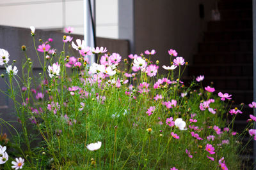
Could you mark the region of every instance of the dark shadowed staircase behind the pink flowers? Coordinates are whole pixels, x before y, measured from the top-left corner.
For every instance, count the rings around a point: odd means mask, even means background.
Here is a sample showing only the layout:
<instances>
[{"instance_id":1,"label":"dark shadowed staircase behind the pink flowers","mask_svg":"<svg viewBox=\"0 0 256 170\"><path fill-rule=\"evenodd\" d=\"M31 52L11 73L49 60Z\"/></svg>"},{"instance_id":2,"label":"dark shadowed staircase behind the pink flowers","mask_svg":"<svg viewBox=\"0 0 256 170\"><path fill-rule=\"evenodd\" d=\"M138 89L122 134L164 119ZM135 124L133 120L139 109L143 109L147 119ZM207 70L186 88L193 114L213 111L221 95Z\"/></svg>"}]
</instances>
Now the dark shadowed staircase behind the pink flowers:
<instances>
[{"instance_id":1,"label":"dark shadowed staircase behind the pink flowers","mask_svg":"<svg viewBox=\"0 0 256 170\"><path fill-rule=\"evenodd\" d=\"M221 20L207 23L189 77L204 75L204 87L213 82L217 92L232 94L232 108L245 104L243 115L237 115L235 131L239 132L253 114L248 107L253 101L252 0L220 0L218 9ZM252 155L249 150L243 157L252 161Z\"/></svg>"}]
</instances>

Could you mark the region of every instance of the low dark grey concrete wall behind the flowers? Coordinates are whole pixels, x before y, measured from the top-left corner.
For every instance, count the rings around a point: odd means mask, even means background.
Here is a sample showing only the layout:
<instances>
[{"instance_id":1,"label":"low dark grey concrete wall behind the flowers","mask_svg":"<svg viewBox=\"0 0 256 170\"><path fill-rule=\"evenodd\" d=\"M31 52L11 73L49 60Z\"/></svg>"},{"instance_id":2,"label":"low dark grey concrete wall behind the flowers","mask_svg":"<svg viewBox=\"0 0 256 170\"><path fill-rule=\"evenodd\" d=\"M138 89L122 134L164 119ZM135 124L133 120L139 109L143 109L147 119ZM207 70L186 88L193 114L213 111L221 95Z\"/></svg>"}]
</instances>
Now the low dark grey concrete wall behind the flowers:
<instances>
[{"instance_id":1,"label":"low dark grey concrete wall behind the flowers","mask_svg":"<svg viewBox=\"0 0 256 170\"><path fill-rule=\"evenodd\" d=\"M19 27L8 27L0 25L0 48L7 50L10 53L10 61L8 64L12 63L12 60L17 60L15 66L19 69L19 76L22 74L22 61L26 59L24 53L21 51L21 46L26 45L28 57L31 58L33 62L33 74L34 76L38 76L38 73L42 72L40 69L40 64L38 63L38 59L36 57L35 48L33 46L33 39L31 38L30 29L24 29ZM43 39L46 41L48 38L52 38L53 41L51 43L52 48L57 49L57 53L60 53L63 50L63 33L57 31L42 31L36 29L35 31L35 39L36 39L36 48L40 45L38 39ZM83 39L83 36L72 34L74 41L79 38ZM120 53L123 58L127 58L129 55L129 42L121 39L109 39L109 38L97 38L97 46L106 46L108 48L108 52ZM68 46L66 45L66 50ZM40 57L44 57L42 53L39 53ZM67 55L67 53L66 53ZM74 50L70 53L70 56L74 55L75 57L79 57L79 53ZM6 70L3 66L0 66L0 74L5 73ZM6 81L8 79L6 78ZM6 90L8 87L6 83L4 83L3 78L0 78L0 89ZM14 107L12 100L8 97L4 96L0 92L0 134L1 132L7 132L10 134L8 129L3 125L1 118L5 121L17 120L17 117L13 115ZM19 127L19 124L13 124L15 127ZM12 131L13 132L13 131Z\"/></svg>"}]
</instances>

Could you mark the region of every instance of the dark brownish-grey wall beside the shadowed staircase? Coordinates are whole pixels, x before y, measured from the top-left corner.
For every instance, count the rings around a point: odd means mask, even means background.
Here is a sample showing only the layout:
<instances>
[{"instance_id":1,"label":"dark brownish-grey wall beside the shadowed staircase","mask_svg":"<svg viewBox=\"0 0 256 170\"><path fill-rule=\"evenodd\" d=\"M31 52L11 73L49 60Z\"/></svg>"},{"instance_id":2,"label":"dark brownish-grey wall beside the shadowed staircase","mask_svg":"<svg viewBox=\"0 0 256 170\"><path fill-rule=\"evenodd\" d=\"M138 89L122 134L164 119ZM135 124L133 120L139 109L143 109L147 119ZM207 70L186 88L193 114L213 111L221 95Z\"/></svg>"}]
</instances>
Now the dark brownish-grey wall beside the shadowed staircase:
<instances>
[{"instance_id":1,"label":"dark brownish-grey wall beside the shadowed staircase","mask_svg":"<svg viewBox=\"0 0 256 170\"><path fill-rule=\"evenodd\" d=\"M200 3L205 7L204 19L199 17ZM154 60L162 65L170 63L168 50L173 48L191 63L214 4L209 0L134 1L136 53L156 49Z\"/></svg>"}]
</instances>

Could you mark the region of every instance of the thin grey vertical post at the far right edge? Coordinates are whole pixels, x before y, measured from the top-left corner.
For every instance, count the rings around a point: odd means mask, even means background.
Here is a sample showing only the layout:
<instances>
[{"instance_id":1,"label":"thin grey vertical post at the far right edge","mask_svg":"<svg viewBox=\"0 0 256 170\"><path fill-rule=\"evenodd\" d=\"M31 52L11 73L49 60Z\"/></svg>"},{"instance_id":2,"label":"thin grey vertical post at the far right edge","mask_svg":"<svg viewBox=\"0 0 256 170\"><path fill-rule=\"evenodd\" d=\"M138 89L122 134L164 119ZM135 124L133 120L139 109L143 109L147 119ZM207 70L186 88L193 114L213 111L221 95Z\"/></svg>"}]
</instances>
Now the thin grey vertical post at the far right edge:
<instances>
[{"instance_id":1,"label":"thin grey vertical post at the far right edge","mask_svg":"<svg viewBox=\"0 0 256 170\"><path fill-rule=\"evenodd\" d=\"M253 101L256 101L256 0L252 1L252 20L253 20ZM255 108L253 110L256 116ZM254 123L254 129L256 125ZM256 141L253 141L253 169L256 169Z\"/></svg>"}]
</instances>

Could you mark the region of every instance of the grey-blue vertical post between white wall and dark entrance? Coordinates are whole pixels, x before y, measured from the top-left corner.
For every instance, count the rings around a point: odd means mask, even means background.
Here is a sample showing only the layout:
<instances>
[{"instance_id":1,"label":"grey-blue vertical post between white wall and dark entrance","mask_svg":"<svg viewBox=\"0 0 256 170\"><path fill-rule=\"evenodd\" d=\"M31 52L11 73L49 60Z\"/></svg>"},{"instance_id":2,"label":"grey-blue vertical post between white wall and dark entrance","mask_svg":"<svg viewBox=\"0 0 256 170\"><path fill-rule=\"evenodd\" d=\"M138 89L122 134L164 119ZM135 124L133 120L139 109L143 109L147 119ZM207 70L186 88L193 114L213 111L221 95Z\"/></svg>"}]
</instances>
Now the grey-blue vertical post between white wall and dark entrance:
<instances>
[{"instance_id":1,"label":"grey-blue vertical post between white wall and dark entrance","mask_svg":"<svg viewBox=\"0 0 256 170\"><path fill-rule=\"evenodd\" d=\"M134 0L118 0L118 38L128 39L130 52L135 52Z\"/></svg>"}]
</instances>

